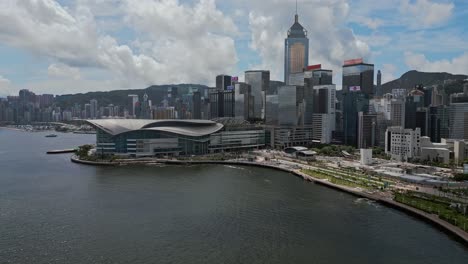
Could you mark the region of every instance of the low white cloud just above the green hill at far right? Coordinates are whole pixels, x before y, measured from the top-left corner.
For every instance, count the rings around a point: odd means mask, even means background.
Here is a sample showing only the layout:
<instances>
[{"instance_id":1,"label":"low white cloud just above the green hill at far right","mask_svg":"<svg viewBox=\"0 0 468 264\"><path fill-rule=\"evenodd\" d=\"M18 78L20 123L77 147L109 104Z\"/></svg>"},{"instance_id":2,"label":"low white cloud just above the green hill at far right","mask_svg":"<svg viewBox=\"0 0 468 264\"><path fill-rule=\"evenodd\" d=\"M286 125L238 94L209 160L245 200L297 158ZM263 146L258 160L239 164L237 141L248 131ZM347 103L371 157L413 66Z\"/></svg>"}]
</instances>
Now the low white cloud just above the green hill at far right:
<instances>
[{"instance_id":1,"label":"low white cloud just above the green hill at far right","mask_svg":"<svg viewBox=\"0 0 468 264\"><path fill-rule=\"evenodd\" d=\"M424 54L405 52L405 63L410 69L425 72L450 72L468 75L468 52L452 60L429 61Z\"/></svg>"}]
</instances>

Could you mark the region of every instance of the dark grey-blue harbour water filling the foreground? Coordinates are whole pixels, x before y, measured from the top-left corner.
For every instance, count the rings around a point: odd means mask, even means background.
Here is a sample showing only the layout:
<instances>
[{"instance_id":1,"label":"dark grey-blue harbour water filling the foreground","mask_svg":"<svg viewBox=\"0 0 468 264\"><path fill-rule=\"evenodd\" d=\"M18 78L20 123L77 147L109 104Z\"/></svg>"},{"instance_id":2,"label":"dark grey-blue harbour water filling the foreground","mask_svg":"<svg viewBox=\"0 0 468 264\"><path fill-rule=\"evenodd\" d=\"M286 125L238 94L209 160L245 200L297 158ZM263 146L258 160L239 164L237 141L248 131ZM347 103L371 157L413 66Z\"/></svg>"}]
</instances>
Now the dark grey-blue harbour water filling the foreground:
<instances>
[{"instance_id":1,"label":"dark grey-blue harbour water filling the foreground","mask_svg":"<svg viewBox=\"0 0 468 264\"><path fill-rule=\"evenodd\" d=\"M416 218L287 173L101 168L46 155L94 135L0 128L0 263L466 263Z\"/></svg>"}]
</instances>

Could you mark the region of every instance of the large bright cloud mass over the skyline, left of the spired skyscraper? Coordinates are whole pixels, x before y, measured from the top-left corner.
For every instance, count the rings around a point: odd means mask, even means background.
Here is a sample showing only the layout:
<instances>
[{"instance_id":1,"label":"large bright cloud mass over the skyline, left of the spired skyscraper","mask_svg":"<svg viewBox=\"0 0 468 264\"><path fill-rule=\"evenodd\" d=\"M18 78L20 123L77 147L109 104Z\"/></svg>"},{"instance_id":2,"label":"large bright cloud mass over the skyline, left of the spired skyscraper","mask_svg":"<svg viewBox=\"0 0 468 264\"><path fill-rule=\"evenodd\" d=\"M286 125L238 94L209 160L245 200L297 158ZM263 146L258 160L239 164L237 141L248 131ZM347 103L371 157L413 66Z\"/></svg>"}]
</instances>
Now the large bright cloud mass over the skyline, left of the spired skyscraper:
<instances>
[{"instance_id":1,"label":"large bright cloud mass over the skyline, left of the spired skyscraper","mask_svg":"<svg viewBox=\"0 0 468 264\"><path fill-rule=\"evenodd\" d=\"M139 48L159 63L160 83L213 84L217 74L235 70L238 28L214 0L193 6L175 0L127 1L126 12L125 21L140 33Z\"/></svg>"}]
</instances>

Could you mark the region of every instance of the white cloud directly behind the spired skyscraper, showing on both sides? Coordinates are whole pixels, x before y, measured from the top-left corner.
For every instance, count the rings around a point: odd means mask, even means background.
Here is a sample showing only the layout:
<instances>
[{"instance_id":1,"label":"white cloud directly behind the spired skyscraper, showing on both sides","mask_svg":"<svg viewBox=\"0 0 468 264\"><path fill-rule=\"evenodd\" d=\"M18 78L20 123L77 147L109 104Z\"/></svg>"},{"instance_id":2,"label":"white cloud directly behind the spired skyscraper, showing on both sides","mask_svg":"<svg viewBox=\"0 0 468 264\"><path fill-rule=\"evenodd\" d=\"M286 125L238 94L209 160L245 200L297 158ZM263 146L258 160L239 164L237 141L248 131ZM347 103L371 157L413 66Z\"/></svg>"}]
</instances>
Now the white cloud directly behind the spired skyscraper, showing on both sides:
<instances>
[{"instance_id":1,"label":"white cloud directly behind the spired skyscraper, showing on both sides","mask_svg":"<svg viewBox=\"0 0 468 264\"><path fill-rule=\"evenodd\" d=\"M294 22L294 10L286 12L291 1L277 1L274 7L253 0L249 14L250 47L258 52L261 63L254 65L269 69L272 77L283 79L284 39ZM307 14L301 16L301 14ZM303 2L300 4L299 22L307 29L310 40L309 62L341 71L343 60L364 57L370 59L369 46L345 27L349 5L344 0Z\"/></svg>"}]
</instances>

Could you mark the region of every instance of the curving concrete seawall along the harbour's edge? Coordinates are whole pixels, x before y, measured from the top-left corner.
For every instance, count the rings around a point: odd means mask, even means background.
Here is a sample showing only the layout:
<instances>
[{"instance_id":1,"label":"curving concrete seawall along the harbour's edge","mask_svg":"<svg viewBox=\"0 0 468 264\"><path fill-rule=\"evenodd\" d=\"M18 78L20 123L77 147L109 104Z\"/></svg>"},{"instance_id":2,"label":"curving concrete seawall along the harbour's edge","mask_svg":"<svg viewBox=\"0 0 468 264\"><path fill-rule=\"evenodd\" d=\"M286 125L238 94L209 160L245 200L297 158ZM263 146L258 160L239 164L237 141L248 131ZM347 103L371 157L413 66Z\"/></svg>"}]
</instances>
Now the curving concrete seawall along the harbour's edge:
<instances>
[{"instance_id":1,"label":"curving concrete seawall along the harbour's edge","mask_svg":"<svg viewBox=\"0 0 468 264\"><path fill-rule=\"evenodd\" d=\"M93 162L93 161L80 160L76 156L72 156L71 161L75 163L94 165L94 166L120 166L120 165L137 165L137 164L140 164L140 165L141 164L168 164L168 165L220 164L220 165L255 166L255 167L263 167L263 168L280 170L280 171L284 171L287 173L291 173L306 181L314 182L314 183L317 183L317 184L320 184L320 185L323 185L323 186L326 186L335 190L347 192L356 197L374 200L388 207L398 209L400 211L408 213L412 216L415 216L421 220L424 220L427 223L430 223L434 225L435 227L447 232L448 234L452 235L455 239L459 240L460 242L468 246L468 233L448 222L445 222L444 220L440 219L437 215L428 214L419 209L396 202L390 198L386 198L378 194L365 192L362 189L337 185L337 184L329 182L328 180L314 178L310 175L302 173L300 170L293 170L293 169L280 167L280 166L276 166L272 164L262 164L258 162L249 162L249 161L183 161L183 160L155 160L155 159L134 159L134 160L127 160L125 162L123 161Z\"/></svg>"}]
</instances>

